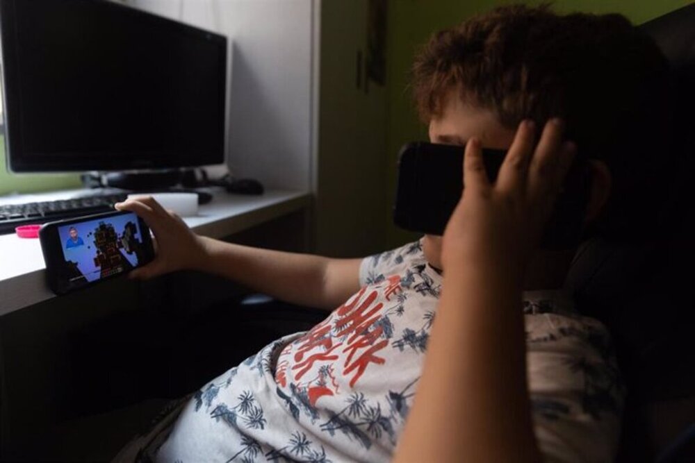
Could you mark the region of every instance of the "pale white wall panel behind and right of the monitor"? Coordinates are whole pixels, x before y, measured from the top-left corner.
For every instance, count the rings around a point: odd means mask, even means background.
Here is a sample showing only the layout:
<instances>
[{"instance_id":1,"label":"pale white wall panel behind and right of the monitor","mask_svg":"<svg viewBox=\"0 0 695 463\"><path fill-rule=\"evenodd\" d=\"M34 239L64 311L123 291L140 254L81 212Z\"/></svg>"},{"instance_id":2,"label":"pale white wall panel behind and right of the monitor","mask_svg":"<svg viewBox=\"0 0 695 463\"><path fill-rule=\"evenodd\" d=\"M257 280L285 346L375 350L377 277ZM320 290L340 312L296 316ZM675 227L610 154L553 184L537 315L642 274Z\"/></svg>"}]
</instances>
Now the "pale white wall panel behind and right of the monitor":
<instances>
[{"instance_id":1,"label":"pale white wall panel behind and right of the monitor","mask_svg":"<svg viewBox=\"0 0 695 463\"><path fill-rule=\"evenodd\" d=\"M312 0L130 0L227 35L227 165L266 187L311 190Z\"/></svg>"}]
</instances>

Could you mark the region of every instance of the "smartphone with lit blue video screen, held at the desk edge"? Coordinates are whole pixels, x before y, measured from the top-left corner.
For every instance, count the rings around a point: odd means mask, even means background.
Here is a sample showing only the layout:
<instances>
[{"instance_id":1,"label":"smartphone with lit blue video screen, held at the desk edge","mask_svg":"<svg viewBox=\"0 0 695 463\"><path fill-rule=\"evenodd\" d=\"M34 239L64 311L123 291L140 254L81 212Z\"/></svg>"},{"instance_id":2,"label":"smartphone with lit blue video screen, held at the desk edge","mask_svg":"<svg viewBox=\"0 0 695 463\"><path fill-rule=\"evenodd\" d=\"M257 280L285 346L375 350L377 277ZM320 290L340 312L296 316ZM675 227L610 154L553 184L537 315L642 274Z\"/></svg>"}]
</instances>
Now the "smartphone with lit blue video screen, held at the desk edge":
<instances>
[{"instance_id":1,"label":"smartphone with lit blue video screen, held at the desk edge","mask_svg":"<svg viewBox=\"0 0 695 463\"><path fill-rule=\"evenodd\" d=\"M133 212L49 222L39 239L48 285L56 294L127 273L154 258L149 228Z\"/></svg>"}]
</instances>

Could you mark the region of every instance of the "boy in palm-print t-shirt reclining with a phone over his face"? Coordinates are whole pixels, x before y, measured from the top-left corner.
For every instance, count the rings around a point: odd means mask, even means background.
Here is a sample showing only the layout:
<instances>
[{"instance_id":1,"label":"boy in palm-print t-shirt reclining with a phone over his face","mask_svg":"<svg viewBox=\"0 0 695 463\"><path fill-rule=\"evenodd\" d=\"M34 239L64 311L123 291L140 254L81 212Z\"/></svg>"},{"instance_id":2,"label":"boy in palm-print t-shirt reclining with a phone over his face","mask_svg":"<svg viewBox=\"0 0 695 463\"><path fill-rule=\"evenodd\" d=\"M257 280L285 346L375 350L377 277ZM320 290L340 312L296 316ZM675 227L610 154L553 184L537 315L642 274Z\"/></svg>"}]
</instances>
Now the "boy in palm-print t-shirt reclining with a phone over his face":
<instances>
[{"instance_id":1,"label":"boy in palm-print t-shirt reclining with a phone over his face","mask_svg":"<svg viewBox=\"0 0 695 463\"><path fill-rule=\"evenodd\" d=\"M456 448L454 460L509 461L518 452L518 460L610 461L623 388L607 332L557 290L575 250L536 246L575 151L591 158L587 230L624 230L631 195L640 191L630 182L641 178L650 148L627 134L648 127L648 111L658 109L651 90L664 75L655 45L615 15L558 17L546 7L511 6L432 37L414 67L420 114L432 142L468 142L469 186L444 242L426 235L363 260L336 260L198 237L152 200L117 205L156 235L156 260L134 276L198 269L333 310L186 398L121 457L390 460L437 313L441 334L431 361L428 354L424 399L399 458L435 461L447 455L428 453L439 445ZM509 149L493 186L477 167L480 146ZM461 405L468 396L475 400ZM452 428L448 403L454 419L473 421ZM427 432L446 439L418 440ZM489 452L495 444L511 453Z\"/></svg>"}]
</instances>

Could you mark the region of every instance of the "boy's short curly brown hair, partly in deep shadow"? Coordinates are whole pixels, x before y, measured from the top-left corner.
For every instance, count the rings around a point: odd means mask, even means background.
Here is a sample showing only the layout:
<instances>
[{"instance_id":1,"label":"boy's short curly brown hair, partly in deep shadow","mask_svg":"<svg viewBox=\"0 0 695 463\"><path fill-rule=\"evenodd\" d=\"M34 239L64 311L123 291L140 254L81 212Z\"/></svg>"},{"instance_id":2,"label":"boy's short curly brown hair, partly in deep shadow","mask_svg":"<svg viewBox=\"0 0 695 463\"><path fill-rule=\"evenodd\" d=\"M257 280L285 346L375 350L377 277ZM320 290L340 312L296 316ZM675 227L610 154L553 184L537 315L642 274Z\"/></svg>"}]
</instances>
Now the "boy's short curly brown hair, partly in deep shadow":
<instances>
[{"instance_id":1,"label":"boy's short curly brown hair, partly in deep shadow","mask_svg":"<svg viewBox=\"0 0 695 463\"><path fill-rule=\"evenodd\" d=\"M514 5L434 34L416 56L412 87L425 123L451 92L493 110L507 128L562 117L580 154L604 160L612 174L596 230L625 238L635 216L657 206L650 201L659 195L644 190L666 164L657 150L668 140L668 71L651 37L621 15Z\"/></svg>"}]
</instances>

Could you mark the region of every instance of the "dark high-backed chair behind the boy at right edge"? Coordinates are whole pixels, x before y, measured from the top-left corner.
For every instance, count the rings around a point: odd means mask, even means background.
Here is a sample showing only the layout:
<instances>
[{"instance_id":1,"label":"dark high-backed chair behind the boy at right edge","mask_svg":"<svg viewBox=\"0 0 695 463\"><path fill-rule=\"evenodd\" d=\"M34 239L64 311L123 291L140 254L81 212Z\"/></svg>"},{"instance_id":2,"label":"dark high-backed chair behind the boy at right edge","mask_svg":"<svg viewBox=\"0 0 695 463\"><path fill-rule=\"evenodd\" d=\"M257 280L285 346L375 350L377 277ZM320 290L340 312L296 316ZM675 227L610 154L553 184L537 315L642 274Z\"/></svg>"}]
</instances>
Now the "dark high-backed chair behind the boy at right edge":
<instances>
[{"instance_id":1,"label":"dark high-backed chair behind the boy at right edge","mask_svg":"<svg viewBox=\"0 0 695 463\"><path fill-rule=\"evenodd\" d=\"M584 244L566 289L614 337L628 387L619 461L695 462L695 4L641 28L671 64L669 200L644 218L662 233L641 246Z\"/></svg>"}]
</instances>

